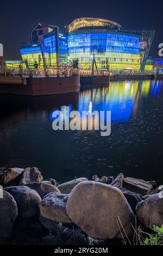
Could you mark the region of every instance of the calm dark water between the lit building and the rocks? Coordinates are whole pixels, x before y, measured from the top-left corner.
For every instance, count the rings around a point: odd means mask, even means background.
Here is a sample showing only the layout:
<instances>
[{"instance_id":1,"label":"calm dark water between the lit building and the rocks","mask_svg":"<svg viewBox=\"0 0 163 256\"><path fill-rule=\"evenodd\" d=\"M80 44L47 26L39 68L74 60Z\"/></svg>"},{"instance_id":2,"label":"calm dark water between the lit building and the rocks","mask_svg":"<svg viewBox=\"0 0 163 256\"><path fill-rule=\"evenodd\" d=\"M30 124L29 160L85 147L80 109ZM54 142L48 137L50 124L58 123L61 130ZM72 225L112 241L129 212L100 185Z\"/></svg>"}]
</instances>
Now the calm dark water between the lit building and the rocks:
<instances>
[{"instance_id":1,"label":"calm dark water between the lit building and the rocks","mask_svg":"<svg viewBox=\"0 0 163 256\"><path fill-rule=\"evenodd\" d=\"M0 97L0 166L37 166L59 183L93 174L163 184L163 82L119 81L80 93ZM111 135L52 129L52 113L110 110Z\"/></svg>"}]
</instances>

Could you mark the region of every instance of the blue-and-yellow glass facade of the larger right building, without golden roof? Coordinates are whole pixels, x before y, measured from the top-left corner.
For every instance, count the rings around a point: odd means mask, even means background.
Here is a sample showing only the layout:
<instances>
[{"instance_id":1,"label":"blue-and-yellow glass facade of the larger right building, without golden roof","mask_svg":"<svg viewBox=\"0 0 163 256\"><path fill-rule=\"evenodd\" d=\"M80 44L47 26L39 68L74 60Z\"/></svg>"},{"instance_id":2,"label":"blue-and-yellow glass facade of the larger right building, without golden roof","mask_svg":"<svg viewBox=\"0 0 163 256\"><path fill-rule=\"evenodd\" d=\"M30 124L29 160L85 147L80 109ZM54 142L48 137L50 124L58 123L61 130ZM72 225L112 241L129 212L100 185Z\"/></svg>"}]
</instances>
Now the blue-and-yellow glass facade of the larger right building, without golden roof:
<instances>
[{"instance_id":1,"label":"blue-and-yellow glass facade of the larger right building, without golden roof","mask_svg":"<svg viewBox=\"0 0 163 256\"><path fill-rule=\"evenodd\" d=\"M71 59L78 58L80 67L89 69L94 54L98 69L140 70L148 54L145 55L147 41L142 42L141 34L103 31L93 29L91 32L89 29L68 34L68 54Z\"/></svg>"}]
</instances>

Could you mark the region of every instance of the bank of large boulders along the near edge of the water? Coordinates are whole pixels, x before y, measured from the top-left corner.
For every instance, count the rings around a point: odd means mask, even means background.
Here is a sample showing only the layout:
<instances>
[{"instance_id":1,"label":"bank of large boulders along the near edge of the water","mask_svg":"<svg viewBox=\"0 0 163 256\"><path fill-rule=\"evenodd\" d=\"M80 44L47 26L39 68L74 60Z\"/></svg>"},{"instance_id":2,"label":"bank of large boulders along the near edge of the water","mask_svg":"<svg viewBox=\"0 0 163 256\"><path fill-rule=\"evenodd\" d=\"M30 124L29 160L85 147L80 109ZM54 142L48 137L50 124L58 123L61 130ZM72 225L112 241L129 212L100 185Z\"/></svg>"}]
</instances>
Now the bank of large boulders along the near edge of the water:
<instances>
[{"instance_id":1,"label":"bank of large boulders along the near edge of the water","mask_svg":"<svg viewBox=\"0 0 163 256\"><path fill-rule=\"evenodd\" d=\"M27 236L35 233L30 242L41 244L49 243L49 234L56 244L122 240L134 235L135 216L142 227L163 224L163 193L154 181L123 174L115 179L94 175L92 181L76 178L59 185L53 178L43 180L33 167L1 168L0 184L0 243L4 244L16 242L11 237L17 233L24 235L23 223ZM44 240L37 241L41 235Z\"/></svg>"}]
</instances>

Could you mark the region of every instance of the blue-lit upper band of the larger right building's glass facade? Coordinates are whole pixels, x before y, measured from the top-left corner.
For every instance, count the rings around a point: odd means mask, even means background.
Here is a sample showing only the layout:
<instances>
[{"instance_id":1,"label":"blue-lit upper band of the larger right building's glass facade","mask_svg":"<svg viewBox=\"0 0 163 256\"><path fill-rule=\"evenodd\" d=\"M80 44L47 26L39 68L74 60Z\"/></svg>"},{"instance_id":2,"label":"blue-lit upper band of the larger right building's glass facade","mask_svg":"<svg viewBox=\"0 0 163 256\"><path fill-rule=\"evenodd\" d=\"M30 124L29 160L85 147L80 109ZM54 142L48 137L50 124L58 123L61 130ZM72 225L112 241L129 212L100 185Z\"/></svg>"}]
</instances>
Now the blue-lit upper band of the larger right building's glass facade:
<instances>
[{"instance_id":1,"label":"blue-lit upper band of the larger right building's glass facade","mask_svg":"<svg viewBox=\"0 0 163 256\"><path fill-rule=\"evenodd\" d=\"M125 52L139 54L140 38L111 33L85 33L68 36L70 53L81 49L83 52Z\"/></svg>"}]
</instances>

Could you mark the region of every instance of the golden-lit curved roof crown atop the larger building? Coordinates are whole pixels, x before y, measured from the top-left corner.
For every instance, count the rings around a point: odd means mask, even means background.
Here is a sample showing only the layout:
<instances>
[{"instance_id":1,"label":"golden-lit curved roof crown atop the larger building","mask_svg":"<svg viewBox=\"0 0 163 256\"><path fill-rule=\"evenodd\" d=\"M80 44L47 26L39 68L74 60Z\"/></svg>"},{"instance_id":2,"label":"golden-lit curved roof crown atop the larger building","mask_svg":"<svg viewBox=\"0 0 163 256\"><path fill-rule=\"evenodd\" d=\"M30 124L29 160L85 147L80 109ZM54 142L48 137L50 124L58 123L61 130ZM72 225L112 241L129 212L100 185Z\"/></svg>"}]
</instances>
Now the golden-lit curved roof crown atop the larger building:
<instances>
[{"instance_id":1,"label":"golden-lit curved roof crown atop the larger building","mask_svg":"<svg viewBox=\"0 0 163 256\"><path fill-rule=\"evenodd\" d=\"M70 23L68 26L68 32L71 33L76 29L84 27L106 27L112 29L122 29L122 26L114 21L98 18L79 18Z\"/></svg>"}]
</instances>

